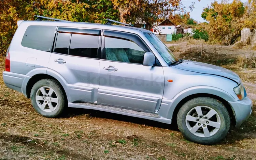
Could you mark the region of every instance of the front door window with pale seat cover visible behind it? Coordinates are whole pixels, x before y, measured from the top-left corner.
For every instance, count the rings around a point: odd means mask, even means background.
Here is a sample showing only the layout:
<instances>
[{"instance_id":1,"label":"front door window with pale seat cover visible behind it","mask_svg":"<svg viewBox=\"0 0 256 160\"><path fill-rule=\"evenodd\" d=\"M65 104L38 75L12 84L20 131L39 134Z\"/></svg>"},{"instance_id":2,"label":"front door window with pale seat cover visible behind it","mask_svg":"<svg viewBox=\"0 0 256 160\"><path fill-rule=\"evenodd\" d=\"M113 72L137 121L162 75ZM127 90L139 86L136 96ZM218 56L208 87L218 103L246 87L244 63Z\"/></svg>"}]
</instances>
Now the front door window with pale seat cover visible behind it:
<instances>
[{"instance_id":1,"label":"front door window with pale seat cover visible behind it","mask_svg":"<svg viewBox=\"0 0 256 160\"><path fill-rule=\"evenodd\" d=\"M105 37L106 60L142 64L144 51L128 39Z\"/></svg>"}]
</instances>

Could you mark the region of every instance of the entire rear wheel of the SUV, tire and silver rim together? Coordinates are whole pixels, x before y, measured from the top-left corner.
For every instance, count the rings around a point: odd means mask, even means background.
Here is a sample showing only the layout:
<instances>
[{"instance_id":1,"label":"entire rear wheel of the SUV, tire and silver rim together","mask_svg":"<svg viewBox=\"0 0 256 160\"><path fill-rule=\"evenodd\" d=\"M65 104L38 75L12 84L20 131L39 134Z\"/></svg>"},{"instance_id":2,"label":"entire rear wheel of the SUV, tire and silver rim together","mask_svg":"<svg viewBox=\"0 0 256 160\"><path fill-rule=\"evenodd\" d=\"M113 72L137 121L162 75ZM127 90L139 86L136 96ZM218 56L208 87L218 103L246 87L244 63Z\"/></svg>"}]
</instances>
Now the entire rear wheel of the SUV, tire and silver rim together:
<instances>
[{"instance_id":1,"label":"entire rear wheel of the SUV, tire and silver rim together","mask_svg":"<svg viewBox=\"0 0 256 160\"><path fill-rule=\"evenodd\" d=\"M33 108L44 117L58 117L67 106L65 92L57 80L42 79L36 82L30 95Z\"/></svg>"}]
</instances>

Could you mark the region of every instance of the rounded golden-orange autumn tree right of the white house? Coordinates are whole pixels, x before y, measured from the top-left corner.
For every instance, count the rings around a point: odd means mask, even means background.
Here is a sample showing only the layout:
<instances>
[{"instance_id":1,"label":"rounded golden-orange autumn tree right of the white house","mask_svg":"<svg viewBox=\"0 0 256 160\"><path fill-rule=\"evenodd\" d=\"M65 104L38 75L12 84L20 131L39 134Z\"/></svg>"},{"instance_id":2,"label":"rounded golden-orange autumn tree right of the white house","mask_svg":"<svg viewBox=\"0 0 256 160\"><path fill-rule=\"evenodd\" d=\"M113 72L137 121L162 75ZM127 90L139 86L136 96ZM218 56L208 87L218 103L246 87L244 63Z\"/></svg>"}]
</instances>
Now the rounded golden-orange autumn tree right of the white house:
<instances>
[{"instance_id":1,"label":"rounded golden-orange autumn tree right of the white house","mask_svg":"<svg viewBox=\"0 0 256 160\"><path fill-rule=\"evenodd\" d=\"M215 1L204 8L201 17L209 22L205 29L210 41L232 44L240 36L244 13L245 7L240 0L233 0L232 3Z\"/></svg>"}]
</instances>

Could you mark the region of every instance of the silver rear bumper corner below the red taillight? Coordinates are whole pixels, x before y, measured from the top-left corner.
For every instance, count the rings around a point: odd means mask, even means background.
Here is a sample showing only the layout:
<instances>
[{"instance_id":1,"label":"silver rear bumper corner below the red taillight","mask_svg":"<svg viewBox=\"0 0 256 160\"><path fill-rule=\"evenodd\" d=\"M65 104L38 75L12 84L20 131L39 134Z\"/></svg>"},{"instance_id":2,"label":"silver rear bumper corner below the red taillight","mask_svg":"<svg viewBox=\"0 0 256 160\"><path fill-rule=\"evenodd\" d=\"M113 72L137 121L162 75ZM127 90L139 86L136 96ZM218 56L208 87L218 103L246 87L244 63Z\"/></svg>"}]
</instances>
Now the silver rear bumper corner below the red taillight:
<instances>
[{"instance_id":1,"label":"silver rear bumper corner below the red taillight","mask_svg":"<svg viewBox=\"0 0 256 160\"><path fill-rule=\"evenodd\" d=\"M3 71L3 81L7 87L22 92L22 83L26 75Z\"/></svg>"}]
</instances>

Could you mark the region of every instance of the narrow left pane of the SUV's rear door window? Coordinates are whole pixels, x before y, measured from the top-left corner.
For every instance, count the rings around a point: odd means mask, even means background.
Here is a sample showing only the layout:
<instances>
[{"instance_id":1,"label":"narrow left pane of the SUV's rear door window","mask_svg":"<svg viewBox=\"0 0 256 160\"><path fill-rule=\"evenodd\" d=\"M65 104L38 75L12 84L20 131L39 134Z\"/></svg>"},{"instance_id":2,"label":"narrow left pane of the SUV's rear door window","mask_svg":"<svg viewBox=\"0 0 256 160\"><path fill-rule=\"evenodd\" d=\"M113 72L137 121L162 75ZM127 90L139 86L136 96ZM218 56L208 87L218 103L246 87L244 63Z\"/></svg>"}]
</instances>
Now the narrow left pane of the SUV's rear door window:
<instances>
[{"instance_id":1,"label":"narrow left pane of the SUV's rear door window","mask_svg":"<svg viewBox=\"0 0 256 160\"><path fill-rule=\"evenodd\" d=\"M68 54L70 34L71 33L58 33L54 52Z\"/></svg>"}]
</instances>

